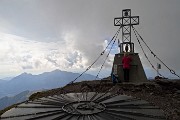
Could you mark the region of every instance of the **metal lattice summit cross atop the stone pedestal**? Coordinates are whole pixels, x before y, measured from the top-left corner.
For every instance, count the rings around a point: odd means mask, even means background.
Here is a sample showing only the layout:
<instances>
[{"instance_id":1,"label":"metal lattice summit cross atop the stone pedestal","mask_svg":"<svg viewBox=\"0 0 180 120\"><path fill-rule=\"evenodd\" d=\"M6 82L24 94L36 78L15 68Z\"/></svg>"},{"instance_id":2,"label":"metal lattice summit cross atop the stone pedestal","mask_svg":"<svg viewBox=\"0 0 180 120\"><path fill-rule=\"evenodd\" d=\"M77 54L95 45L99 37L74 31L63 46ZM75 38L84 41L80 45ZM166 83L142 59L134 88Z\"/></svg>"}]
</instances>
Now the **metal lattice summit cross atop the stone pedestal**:
<instances>
[{"instance_id":1,"label":"metal lattice summit cross atop the stone pedestal","mask_svg":"<svg viewBox=\"0 0 180 120\"><path fill-rule=\"evenodd\" d=\"M122 17L114 18L114 26L122 26L120 52L123 52L124 45L127 46L126 51L134 52L134 43L131 42L131 27L133 25L139 25L139 16L131 16L131 9L122 10Z\"/></svg>"}]
</instances>

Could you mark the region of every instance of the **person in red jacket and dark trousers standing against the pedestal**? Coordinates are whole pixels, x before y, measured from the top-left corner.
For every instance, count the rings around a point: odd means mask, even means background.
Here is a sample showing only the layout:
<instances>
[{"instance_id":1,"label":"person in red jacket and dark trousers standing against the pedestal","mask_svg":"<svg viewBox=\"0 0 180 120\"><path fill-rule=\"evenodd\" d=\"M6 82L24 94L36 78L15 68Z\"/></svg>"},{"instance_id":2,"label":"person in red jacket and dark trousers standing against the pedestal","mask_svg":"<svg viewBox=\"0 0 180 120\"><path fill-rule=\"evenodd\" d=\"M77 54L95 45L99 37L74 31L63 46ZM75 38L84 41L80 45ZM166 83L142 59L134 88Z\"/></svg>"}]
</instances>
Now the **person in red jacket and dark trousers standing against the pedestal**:
<instances>
[{"instance_id":1,"label":"person in red jacket and dark trousers standing against the pedestal","mask_svg":"<svg viewBox=\"0 0 180 120\"><path fill-rule=\"evenodd\" d=\"M125 52L124 56L122 58L123 71L124 71L124 81L125 82L129 82L129 71L130 71L131 61L132 61L131 56L128 54L128 52Z\"/></svg>"}]
</instances>

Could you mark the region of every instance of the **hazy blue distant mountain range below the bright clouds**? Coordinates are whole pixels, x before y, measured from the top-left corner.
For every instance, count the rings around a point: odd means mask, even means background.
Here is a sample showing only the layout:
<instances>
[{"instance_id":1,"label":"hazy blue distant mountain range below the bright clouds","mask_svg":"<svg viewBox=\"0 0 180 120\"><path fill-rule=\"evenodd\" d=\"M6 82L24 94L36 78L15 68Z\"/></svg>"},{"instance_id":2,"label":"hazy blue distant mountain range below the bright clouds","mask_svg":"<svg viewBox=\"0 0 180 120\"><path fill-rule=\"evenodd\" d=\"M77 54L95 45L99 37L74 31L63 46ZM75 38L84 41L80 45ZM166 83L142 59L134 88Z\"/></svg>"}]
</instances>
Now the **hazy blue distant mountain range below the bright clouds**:
<instances>
[{"instance_id":1,"label":"hazy blue distant mountain range below the bright clouds","mask_svg":"<svg viewBox=\"0 0 180 120\"><path fill-rule=\"evenodd\" d=\"M0 98L5 96L14 96L27 90L34 91L62 87L74 80L79 75L79 73L72 73L61 70L45 72L39 75L23 73L9 81L0 80ZM76 81L94 79L95 76L93 75L83 74Z\"/></svg>"}]
</instances>

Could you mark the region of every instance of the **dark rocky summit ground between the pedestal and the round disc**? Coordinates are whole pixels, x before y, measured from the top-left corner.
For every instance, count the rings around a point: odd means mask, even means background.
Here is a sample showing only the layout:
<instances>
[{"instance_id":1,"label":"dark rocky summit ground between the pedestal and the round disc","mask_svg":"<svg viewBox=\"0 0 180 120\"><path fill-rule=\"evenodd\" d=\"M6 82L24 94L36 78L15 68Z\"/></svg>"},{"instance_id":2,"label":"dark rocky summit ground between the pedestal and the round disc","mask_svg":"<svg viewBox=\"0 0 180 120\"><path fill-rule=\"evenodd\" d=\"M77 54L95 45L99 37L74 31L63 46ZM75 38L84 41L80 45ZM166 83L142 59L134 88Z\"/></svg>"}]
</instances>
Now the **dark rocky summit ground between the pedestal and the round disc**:
<instances>
[{"instance_id":1,"label":"dark rocky summit ground between the pedestal and the round disc","mask_svg":"<svg viewBox=\"0 0 180 120\"><path fill-rule=\"evenodd\" d=\"M180 119L180 80L149 80L142 83L117 83L110 79L76 82L62 88L37 92L29 97L30 101L39 98L83 92L110 92L145 100L163 110L167 120Z\"/></svg>"}]
</instances>

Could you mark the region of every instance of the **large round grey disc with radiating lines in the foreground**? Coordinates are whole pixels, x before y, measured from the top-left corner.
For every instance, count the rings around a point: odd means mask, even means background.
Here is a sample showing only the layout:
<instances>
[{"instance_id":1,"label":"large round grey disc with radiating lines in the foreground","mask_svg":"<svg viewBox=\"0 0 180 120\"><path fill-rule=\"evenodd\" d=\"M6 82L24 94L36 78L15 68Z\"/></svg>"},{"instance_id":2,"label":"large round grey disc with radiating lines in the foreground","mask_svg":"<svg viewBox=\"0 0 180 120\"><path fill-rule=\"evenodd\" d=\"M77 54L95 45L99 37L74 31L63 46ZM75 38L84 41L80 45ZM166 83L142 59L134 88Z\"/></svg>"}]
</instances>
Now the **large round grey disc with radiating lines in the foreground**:
<instances>
[{"instance_id":1,"label":"large round grey disc with radiating lines in the foreground","mask_svg":"<svg viewBox=\"0 0 180 120\"><path fill-rule=\"evenodd\" d=\"M110 93L68 93L40 98L5 112L5 120L165 120L147 101Z\"/></svg>"}]
</instances>

